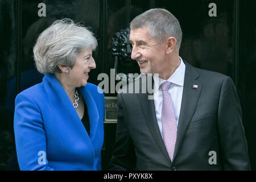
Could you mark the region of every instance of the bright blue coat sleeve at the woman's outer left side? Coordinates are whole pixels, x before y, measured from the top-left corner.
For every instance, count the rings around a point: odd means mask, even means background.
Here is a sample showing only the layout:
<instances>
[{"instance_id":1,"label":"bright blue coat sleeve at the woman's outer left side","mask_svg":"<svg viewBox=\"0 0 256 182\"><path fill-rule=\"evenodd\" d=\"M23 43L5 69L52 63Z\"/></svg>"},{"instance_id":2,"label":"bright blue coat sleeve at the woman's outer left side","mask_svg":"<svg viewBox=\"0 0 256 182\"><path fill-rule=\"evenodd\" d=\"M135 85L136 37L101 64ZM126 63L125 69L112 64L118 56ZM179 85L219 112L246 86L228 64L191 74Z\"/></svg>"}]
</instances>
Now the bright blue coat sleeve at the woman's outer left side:
<instances>
[{"instance_id":1,"label":"bright blue coat sleeve at the woman's outer left side","mask_svg":"<svg viewBox=\"0 0 256 182\"><path fill-rule=\"evenodd\" d=\"M31 97L22 93L15 99L14 134L20 170L53 170L48 166L40 109Z\"/></svg>"}]
</instances>

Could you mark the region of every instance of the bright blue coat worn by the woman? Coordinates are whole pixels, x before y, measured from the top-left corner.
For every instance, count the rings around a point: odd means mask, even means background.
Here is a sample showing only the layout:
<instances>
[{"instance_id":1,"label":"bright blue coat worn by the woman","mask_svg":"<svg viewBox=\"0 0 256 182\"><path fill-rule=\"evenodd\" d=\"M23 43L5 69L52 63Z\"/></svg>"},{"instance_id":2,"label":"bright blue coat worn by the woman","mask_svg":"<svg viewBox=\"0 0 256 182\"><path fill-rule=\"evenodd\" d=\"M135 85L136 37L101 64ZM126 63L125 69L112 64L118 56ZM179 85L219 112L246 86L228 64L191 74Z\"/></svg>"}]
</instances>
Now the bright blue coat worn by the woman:
<instances>
[{"instance_id":1,"label":"bright blue coat worn by the woman","mask_svg":"<svg viewBox=\"0 0 256 182\"><path fill-rule=\"evenodd\" d=\"M90 136L55 75L45 75L16 96L14 133L21 170L101 170L104 94L90 83L79 90L88 108Z\"/></svg>"}]
</instances>

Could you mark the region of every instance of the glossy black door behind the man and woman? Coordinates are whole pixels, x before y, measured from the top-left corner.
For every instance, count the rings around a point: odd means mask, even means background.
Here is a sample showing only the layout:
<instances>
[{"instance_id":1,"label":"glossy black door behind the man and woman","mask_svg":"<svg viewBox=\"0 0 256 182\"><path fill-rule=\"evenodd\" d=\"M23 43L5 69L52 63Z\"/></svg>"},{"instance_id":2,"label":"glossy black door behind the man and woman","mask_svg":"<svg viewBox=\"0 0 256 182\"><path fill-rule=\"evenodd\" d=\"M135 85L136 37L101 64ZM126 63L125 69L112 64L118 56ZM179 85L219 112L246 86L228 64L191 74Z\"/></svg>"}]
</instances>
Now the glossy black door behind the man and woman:
<instances>
[{"instance_id":1,"label":"glossy black door behind the man and woman","mask_svg":"<svg viewBox=\"0 0 256 182\"><path fill-rule=\"evenodd\" d=\"M256 169L256 2L253 0L2 0L0 1L0 169L19 169L13 134L16 94L42 81L32 59L36 37L54 20L83 22L96 35L97 68L89 82L99 85L101 73L139 73L137 63L115 59L112 38L129 27L136 15L153 7L169 10L183 30L180 56L195 67L232 77L240 96L251 168ZM117 62L116 62L117 61ZM117 65L116 65L117 64ZM114 67L116 69L114 69ZM118 80L114 80L117 84ZM111 88L109 82L109 88ZM106 119L102 169L112 155L117 92L105 92Z\"/></svg>"}]
</instances>

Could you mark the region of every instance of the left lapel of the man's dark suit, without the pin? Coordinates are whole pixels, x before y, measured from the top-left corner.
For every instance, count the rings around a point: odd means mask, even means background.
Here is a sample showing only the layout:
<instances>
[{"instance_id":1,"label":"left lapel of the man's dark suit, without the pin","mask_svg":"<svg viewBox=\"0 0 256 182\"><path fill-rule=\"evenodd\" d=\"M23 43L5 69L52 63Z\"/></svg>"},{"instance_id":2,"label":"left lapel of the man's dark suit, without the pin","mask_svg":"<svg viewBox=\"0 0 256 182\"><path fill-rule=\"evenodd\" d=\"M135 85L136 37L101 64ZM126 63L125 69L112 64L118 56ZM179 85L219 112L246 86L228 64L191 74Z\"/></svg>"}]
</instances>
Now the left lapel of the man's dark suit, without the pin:
<instances>
[{"instance_id":1,"label":"left lapel of the man's dark suit, without the pin","mask_svg":"<svg viewBox=\"0 0 256 182\"><path fill-rule=\"evenodd\" d=\"M146 76L147 79L152 77ZM150 130L153 138L155 139L155 142L158 144L160 150L163 152L164 156L166 157L167 160L170 160L166 147L164 146L164 142L162 139L162 136L160 134L158 122L156 119L156 114L155 114L155 103L154 99L148 99L148 96L153 97L154 93L142 93L142 88L145 88L147 86L147 82L142 82L139 85L142 85L140 88L140 93L136 94L139 100L139 103L141 104L141 108L144 114L144 118L146 119L146 123L148 126L148 129ZM147 87L146 87L147 88ZM152 88L154 88L154 80L152 79Z\"/></svg>"}]
</instances>

